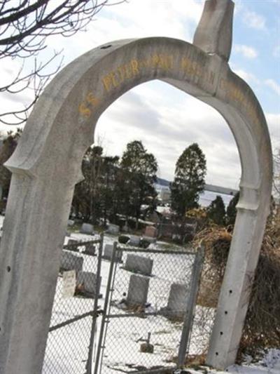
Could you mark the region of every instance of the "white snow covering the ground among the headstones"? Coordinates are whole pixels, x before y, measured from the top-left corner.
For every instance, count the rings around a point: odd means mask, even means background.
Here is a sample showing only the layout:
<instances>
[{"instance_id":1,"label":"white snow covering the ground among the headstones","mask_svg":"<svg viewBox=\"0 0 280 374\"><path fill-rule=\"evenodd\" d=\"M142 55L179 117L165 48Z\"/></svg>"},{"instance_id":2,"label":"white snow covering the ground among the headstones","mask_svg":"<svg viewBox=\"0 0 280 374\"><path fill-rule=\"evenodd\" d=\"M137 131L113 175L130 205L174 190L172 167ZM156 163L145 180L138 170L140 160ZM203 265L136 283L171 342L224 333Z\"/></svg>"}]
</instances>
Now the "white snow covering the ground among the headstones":
<instances>
[{"instance_id":1,"label":"white snow covering the ground among the headstones","mask_svg":"<svg viewBox=\"0 0 280 374\"><path fill-rule=\"evenodd\" d=\"M3 216L0 215L0 227L3 224ZM79 240L90 240L92 236L85 234L73 233L71 238ZM96 237L94 238L96 239ZM69 238L65 239L65 243ZM113 243L116 236L106 235L104 237L104 244ZM165 243L158 242L153 245L153 248L168 248ZM162 277L151 277L150 290L148 294L148 302L151 302L151 310L153 308L160 308L166 305L167 302L167 287L171 281L182 280L183 267L181 268L181 260L178 256L178 262L174 263L172 258L165 257L165 262L155 261L155 268L153 272L157 273L159 269L157 266L162 267ZM190 258L186 258L186 267L190 267ZM103 298L99 300L99 305L102 307L104 302L104 295L106 292L106 283L109 272L110 262L102 261L102 287L101 293ZM85 262L85 270L94 271L97 266L97 258L92 257L92 262ZM175 270L174 270L175 269ZM185 269L186 270L186 269ZM129 273L121 269L121 264L118 265L116 273L116 291L113 293L115 301L120 300L121 295L129 281ZM57 295L60 294L62 287L62 279L59 278L57 282ZM57 298L56 295L56 298ZM71 305L71 308L70 308ZM80 298L71 298L68 300L57 300L55 309L52 314L51 326L72 318L80 312L80 306L83 306L83 312L92 309L92 300ZM202 335L202 330L199 328L201 314L204 308L197 308L197 330L194 336ZM208 311L209 312L209 311ZM212 311L213 312L213 311ZM118 307L111 307L111 314L124 313ZM210 319L214 316L210 311ZM100 318L97 319L98 325ZM60 328L49 334L47 353L43 368L43 374L64 374L64 373L85 373L85 361L88 352L88 342L90 339L91 330L91 317L87 317L69 326ZM211 324L209 325L211 326ZM99 330L99 326L97 326ZM104 364L102 367L102 374L116 374L122 372L129 372L130 368L138 366L152 367L165 365L168 366L167 359L171 356L176 356L179 339L181 335L181 323L172 322L164 316L148 316L145 319L141 318L112 318L109 323L107 331L106 349L104 350ZM139 345L141 341L139 338L146 338L149 331L153 331L151 343L154 345L154 354L146 354L139 352ZM206 331L206 330L205 330ZM205 332L204 331L204 332ZM207 333L207 332L206 332ZM208 332L209 333L209 332ZM97 348L96 336L94 344L94 353ZM205 337L204 337L205 338ZM190 353L197 352L197 342L199 340L191 340ZM280 348L280 347L279 347ZM148 357L148 358L147 358ZM227 368L226 371L188 369L189 373L209 373L209 374L280 374L280 349L270 349L258 363L252 363L247 359L246 363L242 366L234 365ZM125 370L125 371L124 371ZM134 369L135 370L135 369Z\"/></svg>"}]
</instances>

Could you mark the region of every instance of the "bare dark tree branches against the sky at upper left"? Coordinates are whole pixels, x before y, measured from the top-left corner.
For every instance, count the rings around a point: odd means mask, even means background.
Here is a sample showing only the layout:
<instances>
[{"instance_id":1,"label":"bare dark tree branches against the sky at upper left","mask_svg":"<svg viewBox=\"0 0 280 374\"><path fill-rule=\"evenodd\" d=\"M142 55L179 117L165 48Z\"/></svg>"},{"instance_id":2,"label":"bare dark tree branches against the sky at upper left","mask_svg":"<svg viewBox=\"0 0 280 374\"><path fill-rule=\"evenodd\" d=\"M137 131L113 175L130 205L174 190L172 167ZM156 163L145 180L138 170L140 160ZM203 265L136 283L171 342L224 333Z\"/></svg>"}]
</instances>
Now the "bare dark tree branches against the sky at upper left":
<instances>
[{"instance_id":1,"label":"bare dark tree branches against the sky at upper left","mask_svg":"<svg viewBox=\"0 0 280 374\"><path fill-rule=\"evenodd\" d=\"M20 109L0 114L0 123L18 126L27 116L50 78L62 67L55 68L59 53L54 52L46 62L38 62L38 54L47 48L48 36L72 36L84 30L104 7L126 0L3 0L0 3L0 60L22 60L18 73L0 86L0 93L17 95L32 91L34 98ZM27 70L26 60L34 67ZM29 65L29 64L28 64ZM51 70L50 70L51 69Z\"/></svg>"}]
</instances>

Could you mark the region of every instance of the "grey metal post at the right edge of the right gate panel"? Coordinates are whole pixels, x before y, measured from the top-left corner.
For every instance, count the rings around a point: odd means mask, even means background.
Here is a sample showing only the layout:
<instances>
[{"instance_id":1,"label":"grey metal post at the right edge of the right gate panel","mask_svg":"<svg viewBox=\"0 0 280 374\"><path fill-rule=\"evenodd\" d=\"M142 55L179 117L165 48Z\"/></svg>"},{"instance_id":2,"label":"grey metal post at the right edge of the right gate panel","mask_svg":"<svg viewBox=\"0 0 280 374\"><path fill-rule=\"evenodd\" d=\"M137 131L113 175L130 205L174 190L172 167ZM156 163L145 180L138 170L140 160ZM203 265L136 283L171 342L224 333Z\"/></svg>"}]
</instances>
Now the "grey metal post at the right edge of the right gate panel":
<instances>
[{"instance_id":1,"label":"grey metal post at the right edge of the right gate panel","mask_svg":"<svg viewBox=\"0 0 280 374\"><path fill-rule=\"evenodd\" d=\"M190 341L190 333L193 326L193 318L195 314L195 305L197 301L197 293L200 286L200 275L202 272L202 266L204 261L204 247L200 246L193 263L193 271L190 281L190 292L188 296L188 304L186 313L183 321L183 329L181 334L181 341L178 355L178 366L181 368L186 360L186 352L188 349L188 343Z\"/></svg>"}]
</instances>

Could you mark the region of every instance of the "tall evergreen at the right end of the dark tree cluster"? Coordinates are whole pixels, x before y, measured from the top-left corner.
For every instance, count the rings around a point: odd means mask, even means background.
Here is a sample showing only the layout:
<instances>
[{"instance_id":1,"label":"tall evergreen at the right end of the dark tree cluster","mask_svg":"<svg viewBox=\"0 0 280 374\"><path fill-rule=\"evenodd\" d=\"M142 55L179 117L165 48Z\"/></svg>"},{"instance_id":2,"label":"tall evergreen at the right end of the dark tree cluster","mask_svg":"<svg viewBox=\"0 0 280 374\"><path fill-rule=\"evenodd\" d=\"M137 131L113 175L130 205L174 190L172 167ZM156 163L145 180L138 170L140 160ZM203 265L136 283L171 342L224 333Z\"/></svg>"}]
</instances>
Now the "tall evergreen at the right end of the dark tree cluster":
<instances>
[{"instance_id":1,"label":"tall evergreen at the right end of the dark tree cluster","mask_svg":"<svg viewBox=\"0 0 280 374\"><path fill-rule=\"evenodd\" d=\"M119 201L123 213L137 219L141 214L141 206L153 205L157 196L153 184L156 180L158 163L155 156L148 153L139 140L127 144L120 161L120 177L118 182Z\"/></svg>"}]
</instances>

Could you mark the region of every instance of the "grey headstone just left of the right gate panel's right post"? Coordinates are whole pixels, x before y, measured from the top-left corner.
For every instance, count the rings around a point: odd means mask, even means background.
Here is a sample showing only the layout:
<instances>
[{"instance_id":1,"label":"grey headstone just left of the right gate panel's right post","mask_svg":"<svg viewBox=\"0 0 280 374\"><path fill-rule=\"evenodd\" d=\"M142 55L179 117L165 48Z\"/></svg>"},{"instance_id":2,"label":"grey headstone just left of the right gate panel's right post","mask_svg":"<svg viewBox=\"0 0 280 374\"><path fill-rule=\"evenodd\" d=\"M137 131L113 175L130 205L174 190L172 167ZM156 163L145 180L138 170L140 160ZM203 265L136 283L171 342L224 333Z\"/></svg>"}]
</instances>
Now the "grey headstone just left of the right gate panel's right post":
<instances>
[{"instance_id":1,"label":"grey headstone just left of the right gate panel's right post","mask_svg":"<svg viewBox=\"0 0 280 374\"><path fill-rule=\"evenodd\" d=\"M188 304L188 286L181 283L172 283L167 308L165 310L169 317L183 318Z\"/></svg>"}]
</instances>

